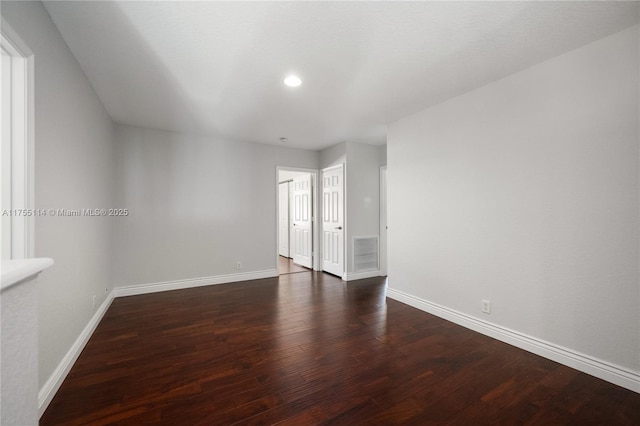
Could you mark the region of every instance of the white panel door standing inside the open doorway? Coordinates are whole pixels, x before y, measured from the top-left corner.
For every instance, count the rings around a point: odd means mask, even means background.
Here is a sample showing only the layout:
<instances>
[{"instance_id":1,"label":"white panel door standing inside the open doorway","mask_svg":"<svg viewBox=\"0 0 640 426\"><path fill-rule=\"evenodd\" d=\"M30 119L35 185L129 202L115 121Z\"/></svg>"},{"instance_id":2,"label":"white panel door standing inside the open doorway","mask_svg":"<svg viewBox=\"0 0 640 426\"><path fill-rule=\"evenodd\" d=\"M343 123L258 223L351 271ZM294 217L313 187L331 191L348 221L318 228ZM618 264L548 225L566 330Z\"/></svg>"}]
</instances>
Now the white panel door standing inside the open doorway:
<instances>
[{"instance_id":1,"label":"white panel door standing inside the open doorway","mask_svg":"<svg viewBox=\"0 0 640 426\"><path fill-rule=\"evenodd\" d=\"M311 174L293 178L293 261L311 268Z\"/></svg>"}]
</instances>

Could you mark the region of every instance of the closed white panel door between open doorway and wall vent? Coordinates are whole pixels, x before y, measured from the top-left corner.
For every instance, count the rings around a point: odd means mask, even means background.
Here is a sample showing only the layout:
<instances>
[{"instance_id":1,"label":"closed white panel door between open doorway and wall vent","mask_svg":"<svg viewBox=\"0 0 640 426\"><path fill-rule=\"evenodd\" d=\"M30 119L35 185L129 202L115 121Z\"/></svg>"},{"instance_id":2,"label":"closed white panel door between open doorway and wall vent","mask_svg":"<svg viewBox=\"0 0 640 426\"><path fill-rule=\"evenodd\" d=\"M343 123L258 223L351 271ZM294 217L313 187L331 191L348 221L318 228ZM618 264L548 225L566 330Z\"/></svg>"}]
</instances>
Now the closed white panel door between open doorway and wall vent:
<instances>
[{"instance_id":1,"label":"closed white panel door between open doorway and wall vent","mask_svg":"<svg viewBox=\"0 0 640 426\"><path fill-rule=\"evenodd\" d=\"M322 270L344 273L344 168L322 171Z\"/></svg>"}]
</instances>

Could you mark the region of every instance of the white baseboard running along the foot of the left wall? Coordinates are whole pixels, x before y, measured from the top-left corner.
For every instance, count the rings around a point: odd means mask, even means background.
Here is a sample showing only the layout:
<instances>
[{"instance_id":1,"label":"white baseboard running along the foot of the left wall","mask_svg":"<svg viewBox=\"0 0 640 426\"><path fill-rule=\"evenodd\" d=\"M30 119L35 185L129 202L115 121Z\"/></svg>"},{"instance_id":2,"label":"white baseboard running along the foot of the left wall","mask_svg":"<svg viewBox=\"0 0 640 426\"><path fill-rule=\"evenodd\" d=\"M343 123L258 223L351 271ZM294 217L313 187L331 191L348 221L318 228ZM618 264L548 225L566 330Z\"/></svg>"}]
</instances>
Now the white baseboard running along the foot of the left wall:
<instances>
[{"instance_id":1,"label":"white baseboard running along the foot of the left wall","mask_svg":"<svg viewBox=\"0 0 640 426\"><path fill-rule=\"evenodd\" d=\"M107 312L107 309L109 309L109 306L111 306L113 298L113 291L107 294L107 298L105 299L105 301L102 302L102 305L100 305L95 314L93 314L93 317L91 317L89 323L86 325L84 330L82 330L80 336L78 336L76 341L73 342L73 345L71 345L71 348L62 358L62 361L60 361L58 367L53 371L51 376L49 376L49 379L45 382L42 388L40 388L40 391L38 392L39 417L42 417L56 392L58 391L58 389L60 389L60 386L62 385L62 382L64 382L64 379L67 377L67 374L69 374L71 367L73 367L73 364L78 359L78 356L80 356L80 353L91 338L91 335L100 323L100 320L102 320L102 317Z\"/></svg>"}]
</instances>

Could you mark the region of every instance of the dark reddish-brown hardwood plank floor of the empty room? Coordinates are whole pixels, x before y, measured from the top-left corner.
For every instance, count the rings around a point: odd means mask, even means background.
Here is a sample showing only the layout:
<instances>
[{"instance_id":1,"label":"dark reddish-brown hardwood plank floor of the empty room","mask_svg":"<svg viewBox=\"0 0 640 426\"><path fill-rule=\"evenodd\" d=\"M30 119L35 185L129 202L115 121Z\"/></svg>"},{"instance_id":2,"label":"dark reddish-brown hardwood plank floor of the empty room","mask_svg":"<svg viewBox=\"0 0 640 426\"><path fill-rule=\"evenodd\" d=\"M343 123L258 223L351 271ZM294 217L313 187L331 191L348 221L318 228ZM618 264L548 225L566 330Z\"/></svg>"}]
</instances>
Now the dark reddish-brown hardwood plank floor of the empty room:
<instances>
[{"instance_id":1,"label":"dark reddish-brown hardwood plank floor of the empty room","mask_svg":"<svg viewBox=\"0 0 640 426\"><path fill-rule=\"evenodd\" d=\"M640 394L310 272L116 299L56 424L632 425Z\"/></svg>"}]
</instances>

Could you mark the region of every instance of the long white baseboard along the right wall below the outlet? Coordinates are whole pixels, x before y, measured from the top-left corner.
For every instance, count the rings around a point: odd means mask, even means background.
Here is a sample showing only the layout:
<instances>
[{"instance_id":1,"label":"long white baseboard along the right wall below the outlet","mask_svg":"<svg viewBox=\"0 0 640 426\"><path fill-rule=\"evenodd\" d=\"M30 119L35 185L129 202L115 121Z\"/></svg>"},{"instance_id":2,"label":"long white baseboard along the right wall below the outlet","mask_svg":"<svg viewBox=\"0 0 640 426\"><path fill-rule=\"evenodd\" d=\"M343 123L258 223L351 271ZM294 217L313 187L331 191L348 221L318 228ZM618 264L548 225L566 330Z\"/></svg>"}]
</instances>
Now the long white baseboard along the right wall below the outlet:
<instances>
[{"instance_id":1,"label":"long white baseboard along the right wall below the outlet","mask_svg":"<svg viewBox=\"0 0 640 426\"><path fill-rule=\"evenodd\" d=\"M453 309L431 303L427 300L404 293L400 290L387 288L387 296L399 302L418 308L440 318L469 328L478 333L532 352L536 355L551 359L568 367L606 380L618 386L640 393L640 372L629 371L617 365L581 354L535 337L527 336L508 328L491 324Z\"/></svg>"}]
</instances>

